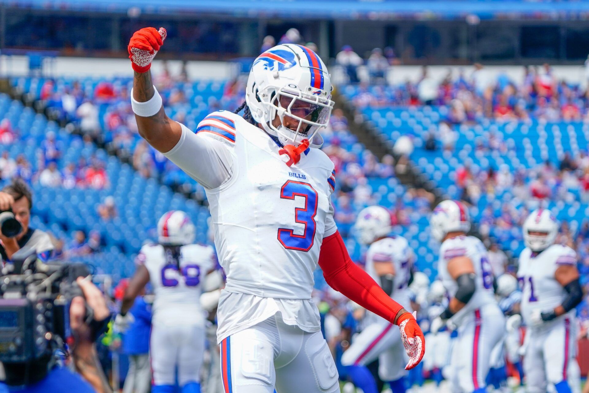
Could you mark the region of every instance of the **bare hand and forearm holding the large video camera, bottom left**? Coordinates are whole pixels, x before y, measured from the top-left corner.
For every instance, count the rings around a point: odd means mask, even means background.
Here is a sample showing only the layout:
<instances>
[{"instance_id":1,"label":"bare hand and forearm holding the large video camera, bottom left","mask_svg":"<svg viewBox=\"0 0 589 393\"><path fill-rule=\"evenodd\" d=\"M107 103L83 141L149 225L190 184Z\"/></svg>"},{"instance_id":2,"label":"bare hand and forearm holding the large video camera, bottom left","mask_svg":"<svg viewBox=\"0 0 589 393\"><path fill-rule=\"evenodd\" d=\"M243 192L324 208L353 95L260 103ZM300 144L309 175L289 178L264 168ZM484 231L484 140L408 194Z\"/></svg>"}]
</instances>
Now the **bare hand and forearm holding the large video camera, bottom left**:
<instances>
[{"instance_id":1,"label":"bare hand and forearm holding the large video camera, bottom left","mask_svg":"<svg viewBox=\"0 0 589 393\"><path fill-rule=\"evenodd\" d=\"M70 328L74 335L74 344L72 345L72 354L75 362L75 368L78 372L90 382L97 392L112 392L108 380L102 371L100 361L92 336L92 328L85 322L86 305L94 312L94 321L105 321L110 317L107 302L100 291L91 281L83 278L76 280L84 293L84 298L77 296L72 299L70 305Z\"/></svg>"}]
</instances>

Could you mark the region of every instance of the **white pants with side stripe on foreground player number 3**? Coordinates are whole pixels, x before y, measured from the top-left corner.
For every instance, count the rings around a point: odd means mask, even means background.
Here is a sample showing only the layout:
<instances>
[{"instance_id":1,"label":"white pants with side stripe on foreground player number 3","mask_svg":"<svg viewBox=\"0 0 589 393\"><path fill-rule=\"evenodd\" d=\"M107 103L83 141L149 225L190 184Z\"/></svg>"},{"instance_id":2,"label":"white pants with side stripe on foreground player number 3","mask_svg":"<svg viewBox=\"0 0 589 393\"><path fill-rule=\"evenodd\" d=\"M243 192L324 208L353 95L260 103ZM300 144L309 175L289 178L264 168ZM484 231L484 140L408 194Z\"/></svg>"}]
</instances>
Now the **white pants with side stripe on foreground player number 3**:
<instances>
[{"instance_id":1,"label":"white pants with side stripe on foreground player number 3","mask_svg":"<svg viewBox=\"0 0 589 393\"><path fill-rule=\"evenodd\" d=\"M286 325L279 313L221 342L221 376L225 393L339 392L321 332Z\"/></svg>"}]
</instances>

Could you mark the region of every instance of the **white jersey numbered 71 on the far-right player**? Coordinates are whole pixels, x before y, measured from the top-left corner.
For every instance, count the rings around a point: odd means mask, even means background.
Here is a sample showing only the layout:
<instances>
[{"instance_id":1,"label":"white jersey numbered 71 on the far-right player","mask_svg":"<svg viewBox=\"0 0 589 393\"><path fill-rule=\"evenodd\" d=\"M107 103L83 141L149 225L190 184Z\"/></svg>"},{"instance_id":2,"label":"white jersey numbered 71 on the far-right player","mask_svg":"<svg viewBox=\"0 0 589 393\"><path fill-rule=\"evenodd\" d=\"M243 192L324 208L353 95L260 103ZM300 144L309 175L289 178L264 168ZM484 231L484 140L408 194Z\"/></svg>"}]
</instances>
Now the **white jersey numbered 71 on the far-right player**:
<instances>
[{"instance_id":1,"label":"white jersey numbered 71 on the far-right player","mask_svg":"<svg viewBox=\"0 0 589 393\"><path fill-rule=\"evenodd\" d=\"M567 291L554 278L556 269L562 265L577 265L577 253L565 245L552 245L541 253L526 247L519 255L517 276L523 292L521 314L528 326L533 311L550 311L567 297ZM574 316L575 309L572 309L555 320Z\"/></svg>"}]
</instances>

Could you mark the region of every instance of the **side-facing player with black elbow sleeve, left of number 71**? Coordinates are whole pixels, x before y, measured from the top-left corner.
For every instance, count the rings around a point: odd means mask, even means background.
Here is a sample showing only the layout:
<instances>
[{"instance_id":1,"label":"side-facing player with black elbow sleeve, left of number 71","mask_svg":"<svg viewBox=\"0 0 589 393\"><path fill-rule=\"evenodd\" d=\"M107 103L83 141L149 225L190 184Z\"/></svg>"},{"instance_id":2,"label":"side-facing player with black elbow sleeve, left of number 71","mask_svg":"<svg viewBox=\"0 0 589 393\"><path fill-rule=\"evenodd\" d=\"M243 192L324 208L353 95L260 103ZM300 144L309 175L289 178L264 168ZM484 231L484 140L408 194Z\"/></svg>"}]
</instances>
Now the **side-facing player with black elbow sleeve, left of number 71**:
<instances>
[{"instance_id":1,"label":"side-facing player with black elbow sleeve, left of number 71","mask_svg":"<svg viewBox=\"0 0 589 393\"><path fill-rule=\"evenodd\" d=\"M450 361L454 391L484 392L491 351L505 333L505 318L493 293L493 273L487 248L466 236L471 223L458 201L438 204L430 219L432 236L442 243L438 275L450 302L432 321L432 331L443 323L456 326L458 337Z\"/></svg>"}]
</instances>

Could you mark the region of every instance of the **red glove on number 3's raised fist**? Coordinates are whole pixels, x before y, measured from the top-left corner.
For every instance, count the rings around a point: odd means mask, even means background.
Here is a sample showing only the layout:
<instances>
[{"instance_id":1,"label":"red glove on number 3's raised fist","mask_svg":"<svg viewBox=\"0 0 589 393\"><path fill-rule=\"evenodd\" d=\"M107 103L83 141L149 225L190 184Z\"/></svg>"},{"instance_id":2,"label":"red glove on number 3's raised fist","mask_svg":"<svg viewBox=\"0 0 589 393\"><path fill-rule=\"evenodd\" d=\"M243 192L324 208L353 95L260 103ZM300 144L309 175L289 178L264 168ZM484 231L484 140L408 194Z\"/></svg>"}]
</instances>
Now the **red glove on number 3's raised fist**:
<instances>
[{"instance_id":1,"label":"red glove on number 3's raised fist","mask_svg":"<svg viewBox=\"0 0 589 393\"><path fill-rule=\"evenodd\" d=\"M166 39L166 29L160 27L156 30L153 27L144 27L135 31L129 41L127 50L129 58L133 62L133 70L136 72L147 72L151 67L151 61Z\"/></svg>"}]
</instances>

